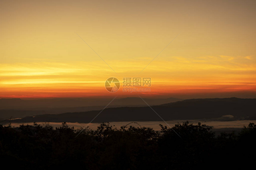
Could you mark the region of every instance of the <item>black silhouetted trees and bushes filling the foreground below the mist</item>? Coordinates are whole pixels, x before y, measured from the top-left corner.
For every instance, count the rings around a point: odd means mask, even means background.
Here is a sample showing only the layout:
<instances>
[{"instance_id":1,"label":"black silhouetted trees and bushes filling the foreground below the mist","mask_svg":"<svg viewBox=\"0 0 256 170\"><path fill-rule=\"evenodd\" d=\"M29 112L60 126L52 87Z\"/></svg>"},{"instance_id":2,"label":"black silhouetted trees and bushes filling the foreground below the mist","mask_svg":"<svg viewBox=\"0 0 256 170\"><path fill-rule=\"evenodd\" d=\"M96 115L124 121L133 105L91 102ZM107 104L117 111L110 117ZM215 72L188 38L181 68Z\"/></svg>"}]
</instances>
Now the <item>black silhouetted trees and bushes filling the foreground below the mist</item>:
<instances>
[{"instance_id":1,"label":"black silhouetted trees and bushes filling the foreground below the mist","mask_svg":"<svg viewBox=\"0 0 256 170\"><path fill-rule=\"evenodd\" d=\"M256 125L219 136L188 122L173 129L115 126L96 131L49 125L0 125L1 165L19 169L246 169L256 163ZM77 137L76 137L77 136Z\"/></svg>"}]
</instances>

